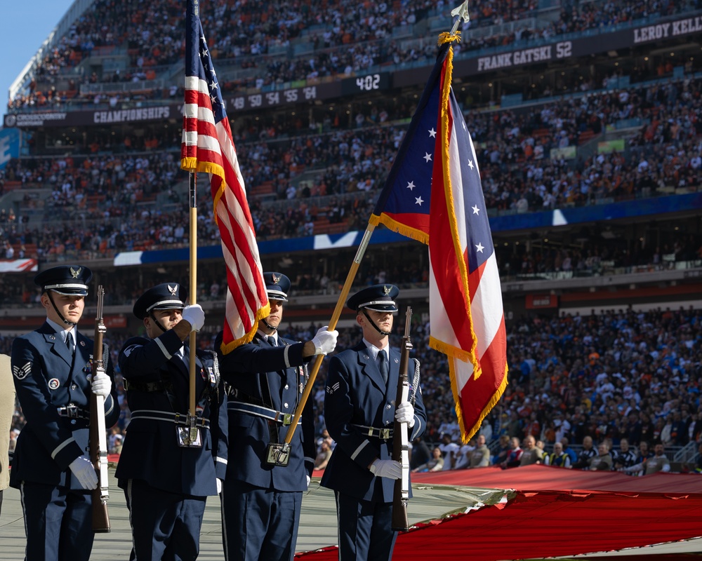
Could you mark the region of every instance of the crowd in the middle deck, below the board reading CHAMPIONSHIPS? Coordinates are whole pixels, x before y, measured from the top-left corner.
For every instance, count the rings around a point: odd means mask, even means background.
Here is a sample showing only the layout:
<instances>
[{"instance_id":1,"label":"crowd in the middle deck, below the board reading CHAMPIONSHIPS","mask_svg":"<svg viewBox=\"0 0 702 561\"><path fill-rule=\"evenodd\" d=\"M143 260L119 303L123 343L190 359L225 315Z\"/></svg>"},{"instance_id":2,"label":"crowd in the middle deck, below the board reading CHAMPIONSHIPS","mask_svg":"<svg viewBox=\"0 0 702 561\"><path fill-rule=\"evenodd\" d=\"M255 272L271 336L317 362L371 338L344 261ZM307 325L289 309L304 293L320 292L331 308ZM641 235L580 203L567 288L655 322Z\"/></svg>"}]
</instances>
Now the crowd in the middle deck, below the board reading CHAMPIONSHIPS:
<instances>
[{"instance_id":1,"label":"crowd in the middle deck, below the board reading CHAMPIONSHIPS","mask_svg":"<svg viewBox=\"0 0 702 561\"><path fill-rule=\"evenodd\" d=\"M702 180L700 86L698 79L661 81L520 111L468 114L489 210L534 212L694 188ZM325 132L308 129L289 140L272 133L267 140L237 143L259 239L317 234L320 218L326 218L324 223L343 222L348 229L364 227L405 132L392 121L411 110L403 103L389 105L389 114L377 108L359 113L357 125L320 123ZM625 151L575 161L549 157L551 149L576 146L578 135L587 130L599 133L631 119L636 119L639 132ZM294 121L278 126L296 130ZM265 130L270 127L262 126L260 133ZM241 136L255 138L260 133L245 127ZM178 142L157 139L161 145ZM183 187L185 173L175 151L130 148L117 154L96 149L91 156L11 161L2 172L3 184L48 186L52 193L46 200L27 194L17 215L0 215L0 242L11 246L13 255L20 255L22 246L34 245L43 259L109 257L119 251L187 245L182 224L185 197L175 187ZM296 187L296 177L303 172L312 173L306 176L312 179ZM265 184L272 193L258 196L256 188ZM212 210L202 205L200 212L199 239L214 243L218 234ZM30 219L37 214L41 225ZM665 243L669 250L661 247L658 253L682 251L687 259L699 255L695 238ZM577 269L578 264L587 266L590 257L571 252L561 260ZM534 259L527 257L521 264L512 260L503 272L534 272ZM656 264L656 257L628 256L621 262Z\"/></svg>"}]
</instances>

